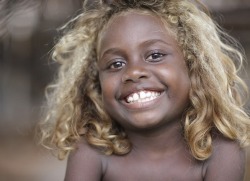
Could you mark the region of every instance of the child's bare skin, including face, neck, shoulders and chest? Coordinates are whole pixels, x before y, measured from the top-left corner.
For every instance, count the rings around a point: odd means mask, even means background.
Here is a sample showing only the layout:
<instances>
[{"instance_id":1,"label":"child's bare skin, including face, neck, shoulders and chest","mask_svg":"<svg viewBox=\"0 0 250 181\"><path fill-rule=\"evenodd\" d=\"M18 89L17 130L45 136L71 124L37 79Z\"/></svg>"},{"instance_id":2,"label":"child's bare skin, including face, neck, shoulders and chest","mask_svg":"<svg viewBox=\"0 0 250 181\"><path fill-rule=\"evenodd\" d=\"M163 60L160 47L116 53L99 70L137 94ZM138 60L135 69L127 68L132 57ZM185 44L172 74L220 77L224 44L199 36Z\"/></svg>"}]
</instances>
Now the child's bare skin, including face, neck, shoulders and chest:
<instances>
[{"instance_id":1,"label":"child's bare skin, including face, neck, shoulders and chest","mask_svg":"<svg viewBox=\"0 0 250 181\"><path fill-rule=\"evenodd\" d=\"M72 152L66 181L240 181L244 151L214 136L213 153L197 161L183 139L190 80L183 55L162 22L150 15L118 16L99 41L103 103L133 147L105 156L85 141Z\"/></svg>"}]
</instances>

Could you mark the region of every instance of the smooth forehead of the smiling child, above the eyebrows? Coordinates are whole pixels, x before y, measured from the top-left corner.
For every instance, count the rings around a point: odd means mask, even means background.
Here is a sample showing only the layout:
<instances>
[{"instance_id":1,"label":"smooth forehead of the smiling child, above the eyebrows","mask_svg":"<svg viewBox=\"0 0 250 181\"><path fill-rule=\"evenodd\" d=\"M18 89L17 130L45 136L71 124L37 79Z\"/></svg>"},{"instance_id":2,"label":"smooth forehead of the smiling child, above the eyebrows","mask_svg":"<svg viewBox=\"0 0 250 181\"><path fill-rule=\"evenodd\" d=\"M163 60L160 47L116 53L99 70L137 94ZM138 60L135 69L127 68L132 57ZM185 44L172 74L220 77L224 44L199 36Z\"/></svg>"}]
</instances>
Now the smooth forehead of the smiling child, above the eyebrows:
<instances>
[{"instance_id":1,"label":"smooth forehead of the smiling child, above the eyebrows","mask_svg":"<svg viewBox=\"0 0 250 181\"><path fill-rule=\"evenodd\" d=\"M173 33L167 22L151 12L129 11L112 17L99 34L98 49L115 40L147 41L169 38ZM172 38L172 37L171 37Z\"/></svg>"}]
</instances>

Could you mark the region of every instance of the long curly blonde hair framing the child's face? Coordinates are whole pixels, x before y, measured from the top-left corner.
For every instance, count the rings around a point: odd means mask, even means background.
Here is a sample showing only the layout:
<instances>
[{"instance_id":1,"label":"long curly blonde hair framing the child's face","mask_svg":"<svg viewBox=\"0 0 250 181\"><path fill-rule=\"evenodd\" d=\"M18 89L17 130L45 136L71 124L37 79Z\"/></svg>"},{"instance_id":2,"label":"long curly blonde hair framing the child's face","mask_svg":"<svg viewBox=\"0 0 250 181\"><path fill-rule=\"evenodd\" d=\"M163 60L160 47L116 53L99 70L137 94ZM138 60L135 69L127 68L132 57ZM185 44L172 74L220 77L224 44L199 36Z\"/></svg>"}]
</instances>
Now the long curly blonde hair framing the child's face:
<instances>
[{"instance_id":1,"label":"long curly blonde hair framing the child's face","mask_svg":"<svg viewBox=\"0 0 250 181\"><path fill-rule=\"evenodd\" d=\"M75 149L81 137L107 155L130 151L126 133L103 108L96 65L98 37L113 17L128 11L159 17L183 51L191 80L183 130L193 156L205 160L211 155L214 131L248 145L250 119L241 101L247 87L237 75L243 53L204 6L191 0L100 1L70 21L54 47L53 59L60 67L47 89L40 141L56 150L59 159Z\"/></svg>"}]
</instances>

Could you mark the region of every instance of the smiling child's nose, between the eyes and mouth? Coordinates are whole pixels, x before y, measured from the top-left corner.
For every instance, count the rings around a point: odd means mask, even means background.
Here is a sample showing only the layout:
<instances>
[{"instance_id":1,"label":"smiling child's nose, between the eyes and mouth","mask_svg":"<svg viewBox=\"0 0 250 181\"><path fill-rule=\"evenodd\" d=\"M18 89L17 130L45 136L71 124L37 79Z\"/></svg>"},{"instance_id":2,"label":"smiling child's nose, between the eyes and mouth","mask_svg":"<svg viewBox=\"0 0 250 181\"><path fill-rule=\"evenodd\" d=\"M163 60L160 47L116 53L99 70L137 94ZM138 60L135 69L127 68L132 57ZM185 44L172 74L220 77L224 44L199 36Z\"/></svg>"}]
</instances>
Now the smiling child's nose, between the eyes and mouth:
<instances>
[{"instance_id":1,"label":"smiling child's nose, between the eyes and mouth","mask_svg":"<svg viewBox=\"0 0 250 181\"><path fill-rule=\"evenodd\" d=\"M123 76L122 82L139 82L142 79L147 79L150 77L149 70L147 70L146 65L143 63L137 63L132 65L127 65Z\"/></svg>"}]
</instances>

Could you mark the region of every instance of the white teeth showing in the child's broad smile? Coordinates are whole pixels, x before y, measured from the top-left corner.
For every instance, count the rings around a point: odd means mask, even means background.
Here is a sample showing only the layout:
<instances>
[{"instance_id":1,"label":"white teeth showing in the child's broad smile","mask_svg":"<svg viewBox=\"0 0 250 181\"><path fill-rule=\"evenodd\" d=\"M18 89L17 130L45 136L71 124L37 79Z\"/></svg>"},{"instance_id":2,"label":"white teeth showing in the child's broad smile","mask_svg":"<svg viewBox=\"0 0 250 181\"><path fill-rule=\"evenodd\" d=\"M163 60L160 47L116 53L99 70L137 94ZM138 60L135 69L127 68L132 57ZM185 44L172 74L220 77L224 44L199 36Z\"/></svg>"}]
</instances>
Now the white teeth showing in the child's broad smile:
<instances>
[{"instance_id":1,"label":"white teeth showing in the child's broad smile","mask_svg":"<svg viewBox=\"0 0 250 181\"><path fill-rule=\"evenodd\" d=\"M129 104L132 103L140 103L140 102L148 102L156 99L161 95L160 92L157 91L139 91L133 94L130 94L125 98L125 101Z\"/></svg>"}]
</instances>

